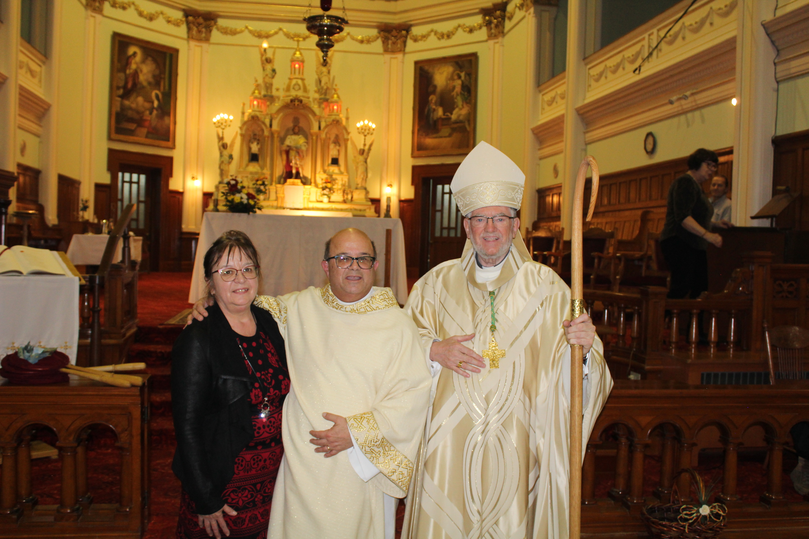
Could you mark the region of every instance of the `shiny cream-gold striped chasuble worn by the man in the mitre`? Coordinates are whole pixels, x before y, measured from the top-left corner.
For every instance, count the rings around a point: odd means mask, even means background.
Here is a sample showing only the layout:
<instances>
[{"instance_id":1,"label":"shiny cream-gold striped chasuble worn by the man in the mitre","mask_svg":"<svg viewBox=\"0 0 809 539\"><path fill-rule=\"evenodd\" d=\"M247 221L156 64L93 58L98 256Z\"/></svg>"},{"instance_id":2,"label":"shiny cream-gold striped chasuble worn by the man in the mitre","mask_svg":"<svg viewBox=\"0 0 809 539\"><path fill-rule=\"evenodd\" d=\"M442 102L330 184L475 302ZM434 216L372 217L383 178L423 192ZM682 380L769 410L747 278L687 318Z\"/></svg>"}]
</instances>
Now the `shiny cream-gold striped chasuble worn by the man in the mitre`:
<instances>
[{"instance_id":1,"label":"shiny cream-gold striped chasuble worn by the man in the mitre","mask_svg":"<svg viewBox=\"0 0 809 539\"><path fill-rule=\"evenodd\" d=\"M403 539L566 539L570 444L570 288L515 242L500 275L475 276L462 258L434 267L413 286L404 310L425 351L433 339L475 334L489 347L489 290L497 290L499 368L469 378L442 368L404 518ZM587 360L583 444L612 388L596 337ZM583 455L583 452L582 452Z\"/></svg>"}]
</instances>

